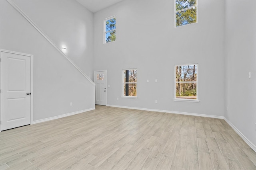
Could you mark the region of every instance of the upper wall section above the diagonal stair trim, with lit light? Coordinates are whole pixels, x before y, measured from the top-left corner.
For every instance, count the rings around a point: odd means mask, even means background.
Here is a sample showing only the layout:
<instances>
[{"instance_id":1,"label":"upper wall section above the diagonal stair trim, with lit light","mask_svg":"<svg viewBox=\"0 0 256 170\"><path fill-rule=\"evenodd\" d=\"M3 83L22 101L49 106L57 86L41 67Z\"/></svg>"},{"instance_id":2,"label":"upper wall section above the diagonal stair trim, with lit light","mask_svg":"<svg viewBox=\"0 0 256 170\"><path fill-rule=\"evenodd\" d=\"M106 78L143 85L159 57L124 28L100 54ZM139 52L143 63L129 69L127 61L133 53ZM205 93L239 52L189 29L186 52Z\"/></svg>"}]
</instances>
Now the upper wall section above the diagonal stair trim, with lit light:
<instances>
[{"instance_id":1,"label":"upper wall section above the diagonal stair trim, with lit light","mask_svg":"<svg viewBox=\"0 0 256 170\"><path fill-rule=\"evenodd\" d=\"M93 14L75 0L13 0L13 2L93 79Z\"/></svg>"}]
</instances>

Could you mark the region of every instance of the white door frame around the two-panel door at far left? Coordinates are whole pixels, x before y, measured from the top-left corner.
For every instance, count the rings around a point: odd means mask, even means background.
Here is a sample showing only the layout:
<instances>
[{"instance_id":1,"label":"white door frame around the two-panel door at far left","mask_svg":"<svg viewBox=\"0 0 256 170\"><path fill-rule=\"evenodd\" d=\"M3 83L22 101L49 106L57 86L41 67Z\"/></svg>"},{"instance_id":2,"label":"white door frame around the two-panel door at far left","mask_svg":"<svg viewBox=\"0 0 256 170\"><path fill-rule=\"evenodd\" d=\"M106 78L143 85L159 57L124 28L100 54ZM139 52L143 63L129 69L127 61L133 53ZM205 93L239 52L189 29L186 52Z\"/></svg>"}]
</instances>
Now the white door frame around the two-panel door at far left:
<instances>
[{"instance_id":1,"label":"white door frame around the two-panel door at far left","mask_svg":"<svg viewBox=\"0 0 256 170\"><path fill-rule=\"evenodd\" d=\"M30 95L30 124L33 124L33 121L34 121L34 118L33 118L33 99L34 99L34 91L33 91L33 81L34 81L34 77L33 77L33 69L34 69L34 56L31 55L31 54L25 54L25 53L19 53L19 52L15 52L15 51L9 51L9 50L4 50L4 49L0 49L0 55L2 52L5 52L5 53L12 53L12 54L17 54L17 55L25 55L25 56L28 56L30 57L30 92L31 92L31 95ZM1 68L1 65L2 63L0 64L0 88L2 87L2 78L1 78L1 71L2 71L2 68ZM1 96L2 96L2 93L1 93ZM0 104L2 104L2 101L1 101L1 98L0 98ZM1 119L1 109L0 109L0 120L2 121ZM1 126L0 126L0 132L1 132Z\"/></svg>"}]
</instances>

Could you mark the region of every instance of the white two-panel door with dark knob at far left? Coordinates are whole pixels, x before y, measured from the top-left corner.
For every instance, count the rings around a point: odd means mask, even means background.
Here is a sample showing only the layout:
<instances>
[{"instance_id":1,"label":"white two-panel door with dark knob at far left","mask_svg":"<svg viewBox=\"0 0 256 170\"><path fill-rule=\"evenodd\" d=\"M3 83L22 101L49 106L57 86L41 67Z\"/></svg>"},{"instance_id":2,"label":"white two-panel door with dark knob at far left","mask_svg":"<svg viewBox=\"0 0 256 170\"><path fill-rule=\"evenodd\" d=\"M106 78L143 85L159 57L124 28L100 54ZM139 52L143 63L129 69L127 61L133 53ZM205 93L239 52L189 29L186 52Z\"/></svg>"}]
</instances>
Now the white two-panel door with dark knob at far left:
<instances>
[{"instance_id":1,"label":"white two-panel door with dark knob at far left","mask_svg":"<svg viewBox=\"0 0 256 170\"><path fill-rule=\"evenodd\" d=\"M30 124L31 57L1 51L1 131Z\"/></svg>"}]
</instances>

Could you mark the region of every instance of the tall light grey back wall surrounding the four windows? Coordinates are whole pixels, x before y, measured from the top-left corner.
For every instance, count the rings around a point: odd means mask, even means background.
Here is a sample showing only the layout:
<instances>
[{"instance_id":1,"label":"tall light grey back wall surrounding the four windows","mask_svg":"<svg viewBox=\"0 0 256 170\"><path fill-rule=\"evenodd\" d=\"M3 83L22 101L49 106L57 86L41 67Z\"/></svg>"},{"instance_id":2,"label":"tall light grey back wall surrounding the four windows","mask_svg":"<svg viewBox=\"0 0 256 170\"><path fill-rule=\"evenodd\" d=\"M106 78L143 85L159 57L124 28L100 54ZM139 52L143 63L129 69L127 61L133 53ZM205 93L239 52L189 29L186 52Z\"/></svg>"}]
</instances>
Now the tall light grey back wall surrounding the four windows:
<instances>
[{"instance_id":1,"label":"tall light grey back wall surrounding the four windows","mask_svg":"<svg viewBox=\"0 0 256 170\"><path fill-rule=\"evenodd\" d=\"M224 1L198 8L198 23L178 28L173 0L124 0L94 13L94 70L108 70L108 105L224 116ZM111 16L116 41L103 44ZM174 65L189 63L198 63L200 102L174 102ZM138 69L138 99L120 98L124 68Z\"/></svg>"}]
</instances>

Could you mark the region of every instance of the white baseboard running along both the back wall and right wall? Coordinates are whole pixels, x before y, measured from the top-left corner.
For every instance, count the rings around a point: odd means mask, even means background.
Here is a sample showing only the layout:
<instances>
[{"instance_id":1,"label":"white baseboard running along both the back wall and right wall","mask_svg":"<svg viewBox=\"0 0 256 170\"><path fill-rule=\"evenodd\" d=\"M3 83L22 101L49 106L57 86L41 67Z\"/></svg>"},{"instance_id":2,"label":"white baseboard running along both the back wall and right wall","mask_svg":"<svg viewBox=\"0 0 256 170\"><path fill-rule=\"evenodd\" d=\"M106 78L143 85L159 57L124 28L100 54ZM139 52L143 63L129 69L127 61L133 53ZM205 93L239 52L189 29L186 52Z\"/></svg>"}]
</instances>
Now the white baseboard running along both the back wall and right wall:
<instances>
[{"instance_id":1,"label":"white baseboard running along both the back wall and right wall","mask_svg":"<svg viewBox=\"0 0 256 170\"><path fill-rule=\"evenodd\" d=\"M158 110L158 109L146 109L146 108L139 108L139 107L128 107L128 106L115 106L115 105L107 105L110 107L120 107L120 108L126 108L126 109L137 109L137 110L146 110L146 111L158 111L158 112L165 112L165 113L174 113L174 114L182 114L182 115L192 115L192 116L202 116L202 117L211 117L211 118L217 118L217 119L224 119L228 125L234 129L234 131L242 138L244 141L256 152L256 146L249 141L226 117L224 116L215 116L215 115L204 115L204 114L198 114L198 113L187 113L187 112L179 112L179 111L169 111L169 110Z\"/></svg>"}]
</instances>

